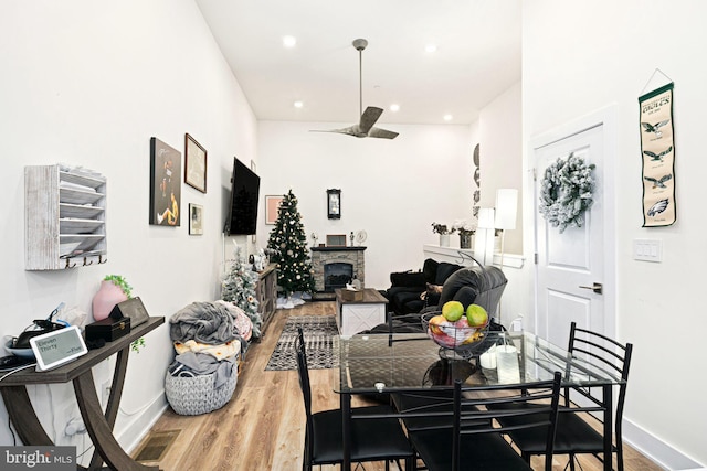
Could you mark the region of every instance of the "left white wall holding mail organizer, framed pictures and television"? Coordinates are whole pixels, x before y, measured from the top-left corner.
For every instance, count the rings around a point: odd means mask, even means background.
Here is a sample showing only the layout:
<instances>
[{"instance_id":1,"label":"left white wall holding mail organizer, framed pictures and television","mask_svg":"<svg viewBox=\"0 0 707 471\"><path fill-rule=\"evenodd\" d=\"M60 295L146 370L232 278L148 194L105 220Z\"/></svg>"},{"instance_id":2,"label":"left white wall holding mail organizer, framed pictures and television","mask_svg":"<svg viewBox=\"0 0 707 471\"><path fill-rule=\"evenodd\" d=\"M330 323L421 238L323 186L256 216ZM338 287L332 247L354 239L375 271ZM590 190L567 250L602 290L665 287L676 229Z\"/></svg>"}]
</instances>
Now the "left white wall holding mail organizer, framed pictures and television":
<instances>
[{"instance_id":1,"label":"left white wall holding mail organizer, framed pictures and television","mask_svg":"<svg viewBox=\"0 0 707 471\"><path fill-rule=\"evenodd\" d=\"M35 0L6 2L2 10L0 334L18 334L61 301L91 315L91 299L108 274L124 275L151 315L215 299L232 159L256 158L256 121L193 1ZM189 236L186 218L178 228L148 225L150 137L183 150L184 132L209 152L208 193L182 185L181 201L184 210L190 202L204 206L203 236ZM105 265L24 270L23 167L56 162L107 176ZM146 341L131 355L116 425L126 445L165 406L172 354L167 327ZM108 366L96 368L97 381ZM78 416L71 385L33 387L31 397L51 422L50 436L82 452L86 443L63 436L68 418ZM0 410L7 424L4 406ZM0 443L12 443L7 426Z\"/></svg>"}]
</instances>

